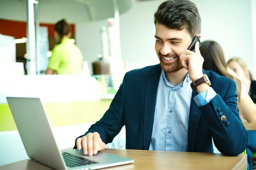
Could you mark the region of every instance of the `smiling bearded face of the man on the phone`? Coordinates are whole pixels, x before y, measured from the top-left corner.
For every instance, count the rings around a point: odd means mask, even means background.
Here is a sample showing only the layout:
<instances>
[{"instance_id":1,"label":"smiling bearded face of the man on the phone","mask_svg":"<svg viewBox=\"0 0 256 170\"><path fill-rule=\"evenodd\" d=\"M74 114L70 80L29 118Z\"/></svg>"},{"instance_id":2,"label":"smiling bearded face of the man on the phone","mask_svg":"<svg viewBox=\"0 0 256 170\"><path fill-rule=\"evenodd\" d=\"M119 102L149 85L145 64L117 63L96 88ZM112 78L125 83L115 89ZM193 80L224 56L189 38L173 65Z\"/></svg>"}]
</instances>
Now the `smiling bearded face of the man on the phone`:
<instances>
[{"instance_id":1,"label":"smiling bearded face of the man on the phone","mask_svg":"<svg viewBox=\"0 0 256 170\"><path fill-rule=\"evenodd\" d=\"M156 23L155 39L155 51L162 69L167 73L182 69L179 56L188 49L192 41L189 32L186 29L169 29L163 24Z\"/></svg>"}]
</instances>

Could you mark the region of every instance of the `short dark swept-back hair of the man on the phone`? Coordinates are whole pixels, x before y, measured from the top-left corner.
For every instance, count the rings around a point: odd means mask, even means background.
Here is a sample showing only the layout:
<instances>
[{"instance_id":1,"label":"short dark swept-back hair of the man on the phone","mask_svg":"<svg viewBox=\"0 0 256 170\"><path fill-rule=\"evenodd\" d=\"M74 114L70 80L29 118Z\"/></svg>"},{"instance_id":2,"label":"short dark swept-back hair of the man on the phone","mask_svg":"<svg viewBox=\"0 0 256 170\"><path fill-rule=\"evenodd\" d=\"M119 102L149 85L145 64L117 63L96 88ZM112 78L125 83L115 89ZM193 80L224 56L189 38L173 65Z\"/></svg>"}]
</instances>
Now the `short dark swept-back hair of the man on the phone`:
<instances>
[{"instance_id":1,"label":"short dark swept-back hair of the man on the phone","mask_svg":"<svg viewBox=\"0 0 256 170\"><path fill-rule=\"evenodd\" d=\"M189 0L167 0L159 5L154 15L158 22L170 29L186 29L191 37L201 32L201 18L195 4Z\"/></svg>"}]
</instances>

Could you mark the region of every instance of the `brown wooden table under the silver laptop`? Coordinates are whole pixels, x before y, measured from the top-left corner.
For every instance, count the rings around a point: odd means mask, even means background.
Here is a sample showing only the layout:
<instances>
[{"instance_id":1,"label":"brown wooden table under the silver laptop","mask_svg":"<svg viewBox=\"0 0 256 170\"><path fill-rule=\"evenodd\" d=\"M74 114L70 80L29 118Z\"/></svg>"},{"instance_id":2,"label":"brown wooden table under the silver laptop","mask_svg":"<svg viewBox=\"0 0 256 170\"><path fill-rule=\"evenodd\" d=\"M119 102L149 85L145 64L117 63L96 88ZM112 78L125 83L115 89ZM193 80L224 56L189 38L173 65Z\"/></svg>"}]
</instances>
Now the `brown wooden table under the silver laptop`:
<instances>
[{"instance_id":1,"label":"brown wooden table under the silver laptop","mask_svg":"<svg viewBox=\"0 0 256 170\"><path fill-rule=\"evenodd\" d=\"M221 154L198 152L168 152L150 150L105 149L123 157L132 158L134 163L104 168L102 170L245 170L247 156L227 157ZM0 170L52 170L31 159L1 166Z\"/></svg>"}]
</instances>

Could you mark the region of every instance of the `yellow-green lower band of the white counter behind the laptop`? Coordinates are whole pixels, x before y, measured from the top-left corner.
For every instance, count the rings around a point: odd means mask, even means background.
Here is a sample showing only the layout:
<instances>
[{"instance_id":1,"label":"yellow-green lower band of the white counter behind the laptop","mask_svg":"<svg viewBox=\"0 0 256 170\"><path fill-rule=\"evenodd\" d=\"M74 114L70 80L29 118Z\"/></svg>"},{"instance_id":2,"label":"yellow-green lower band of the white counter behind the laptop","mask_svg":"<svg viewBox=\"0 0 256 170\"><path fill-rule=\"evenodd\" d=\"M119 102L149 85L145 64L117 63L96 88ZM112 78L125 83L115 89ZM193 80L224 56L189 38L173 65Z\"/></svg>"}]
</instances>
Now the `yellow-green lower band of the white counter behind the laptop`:
<instances>
[{"instance_id":1,"label":"yellow-green lower band of the white counter behind the laptop","mask_svg":"<svg viewBox=\"0 0 256 170\"><path fill-rule=\"evenodd\" d=\"M45 102L53 127L86 124L98 121L112 99L79 102ZM0 104L0 131L17 130L8 104Z\"/></svg>"}]
</instances>

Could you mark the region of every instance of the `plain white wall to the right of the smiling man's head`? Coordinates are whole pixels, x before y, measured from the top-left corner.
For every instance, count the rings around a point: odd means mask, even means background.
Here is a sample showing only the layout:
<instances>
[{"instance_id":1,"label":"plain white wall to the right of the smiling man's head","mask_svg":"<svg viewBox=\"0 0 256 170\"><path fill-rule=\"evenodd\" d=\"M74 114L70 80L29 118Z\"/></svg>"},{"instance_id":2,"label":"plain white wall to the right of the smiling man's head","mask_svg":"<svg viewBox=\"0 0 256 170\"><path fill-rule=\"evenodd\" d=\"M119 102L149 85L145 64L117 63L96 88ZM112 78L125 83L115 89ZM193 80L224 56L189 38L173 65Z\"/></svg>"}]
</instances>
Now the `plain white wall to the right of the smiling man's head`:
<instances>
[{"instance_id":1,"label":"plain white wall to the right of the smiling man's head","mask_svg":"<svg viewBox=\"0 0 256 170\"><path fill-rule=\"evenodd\" d=\"M193 0L202 18L202 40L215 40L226 60L243 57L253 70L252 15L249 0ZM254 74L255 75L255 74Z\"/></svg>"}]
</instances>

